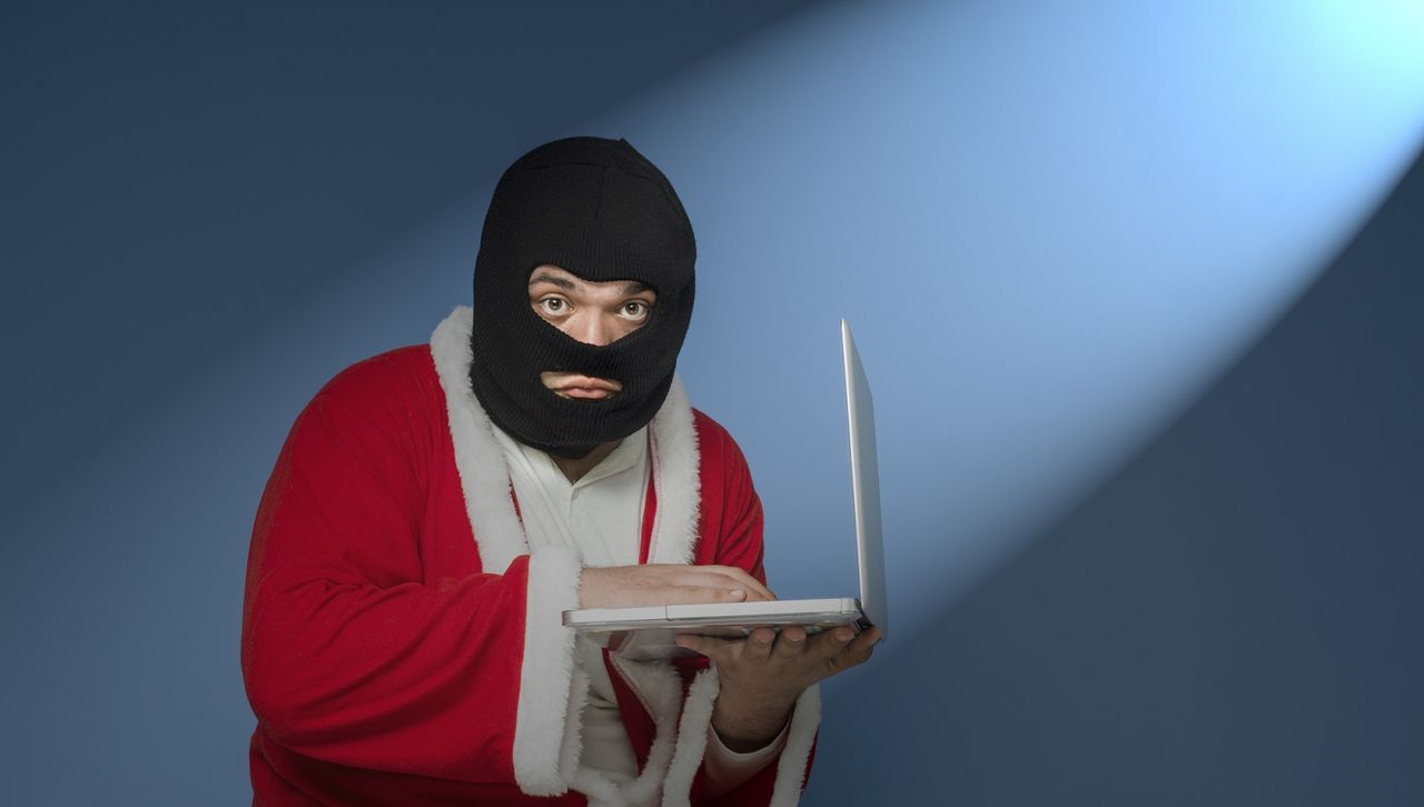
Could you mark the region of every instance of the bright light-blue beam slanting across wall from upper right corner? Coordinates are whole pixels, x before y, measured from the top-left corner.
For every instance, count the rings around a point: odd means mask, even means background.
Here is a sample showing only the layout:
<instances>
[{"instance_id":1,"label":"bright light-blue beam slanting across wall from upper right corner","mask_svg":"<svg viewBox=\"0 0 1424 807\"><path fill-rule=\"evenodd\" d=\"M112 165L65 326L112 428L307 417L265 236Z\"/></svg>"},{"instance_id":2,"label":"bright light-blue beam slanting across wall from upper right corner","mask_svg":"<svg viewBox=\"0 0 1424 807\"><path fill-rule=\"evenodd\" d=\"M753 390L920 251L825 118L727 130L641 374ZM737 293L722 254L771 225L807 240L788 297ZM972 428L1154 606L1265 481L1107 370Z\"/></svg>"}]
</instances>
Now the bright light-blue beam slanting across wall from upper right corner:
<instances>
[{"instance_id":1,"label":"bright light-blue beam slanting across wall from upper right corner","mask_svg":"<svg viewBox=\"0 0 1424 807\"><path fill-rule=\"evenodd\" d=\"M1417 24L1386 0L829 6L548 137L628 137L682 194L699 300L681 370L752 461L783 596L856 585L850 319L910 636L1200 394L1370 215L1424 128ZM273 343L340 366L422 333L466 297L488 192Z\"/></svg>"}]
</instances>

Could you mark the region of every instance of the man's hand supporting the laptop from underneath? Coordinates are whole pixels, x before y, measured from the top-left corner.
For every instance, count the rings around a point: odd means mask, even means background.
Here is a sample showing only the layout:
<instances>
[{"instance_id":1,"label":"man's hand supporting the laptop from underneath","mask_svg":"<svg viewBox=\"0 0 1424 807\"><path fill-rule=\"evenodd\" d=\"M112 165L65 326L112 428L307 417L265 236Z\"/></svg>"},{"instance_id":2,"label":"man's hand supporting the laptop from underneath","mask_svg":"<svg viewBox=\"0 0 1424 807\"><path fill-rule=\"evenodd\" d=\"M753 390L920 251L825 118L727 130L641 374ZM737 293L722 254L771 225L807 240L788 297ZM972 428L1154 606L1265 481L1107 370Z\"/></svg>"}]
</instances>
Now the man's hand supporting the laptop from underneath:
<instances>
[{"instance_id":1,"label":"man's hand supporting the laptop from underneath","mask_svg":"<svg viewBox=\"0 0 1424 807\"><path fill-rule=\"evenodd\" d=\"M807 638L799 626L785 628L779 636L758 628L746 639L678 636L678 645L716 663L722 692L712 727L728 749L740 753L776 739L803 689L864 663L879 640L876 628L859 636L850 628L834 628Z\"/></svg>"}]
</instances>

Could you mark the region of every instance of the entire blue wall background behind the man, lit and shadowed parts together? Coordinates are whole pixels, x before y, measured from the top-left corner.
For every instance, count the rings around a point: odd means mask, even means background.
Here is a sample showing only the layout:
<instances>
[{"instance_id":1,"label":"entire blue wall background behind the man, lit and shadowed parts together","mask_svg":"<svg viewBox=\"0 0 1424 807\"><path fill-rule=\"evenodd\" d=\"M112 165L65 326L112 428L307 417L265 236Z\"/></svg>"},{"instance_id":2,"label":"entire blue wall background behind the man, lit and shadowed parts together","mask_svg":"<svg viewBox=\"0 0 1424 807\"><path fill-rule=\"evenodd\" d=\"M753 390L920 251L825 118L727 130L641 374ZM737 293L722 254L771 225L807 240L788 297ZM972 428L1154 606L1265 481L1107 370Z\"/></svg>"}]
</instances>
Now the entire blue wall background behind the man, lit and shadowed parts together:
<instances>
[{"instance_id":1,"label":"entire blue wall background behind the man, lit and shadowed parts together","mask_svg":"<svg viewBox=\"0 0 1424 807\"><path fill-rule=\"evenodd\" d=\"M262 484L464 303L498 171L627 137L699 239L681 370L783 596L894 638L809 804L1424 803L1424 10L66 3L0 26L0 759L236 804ZM1411 168L1413 167L1413 168Z\"/></svg>"}]
</instances>

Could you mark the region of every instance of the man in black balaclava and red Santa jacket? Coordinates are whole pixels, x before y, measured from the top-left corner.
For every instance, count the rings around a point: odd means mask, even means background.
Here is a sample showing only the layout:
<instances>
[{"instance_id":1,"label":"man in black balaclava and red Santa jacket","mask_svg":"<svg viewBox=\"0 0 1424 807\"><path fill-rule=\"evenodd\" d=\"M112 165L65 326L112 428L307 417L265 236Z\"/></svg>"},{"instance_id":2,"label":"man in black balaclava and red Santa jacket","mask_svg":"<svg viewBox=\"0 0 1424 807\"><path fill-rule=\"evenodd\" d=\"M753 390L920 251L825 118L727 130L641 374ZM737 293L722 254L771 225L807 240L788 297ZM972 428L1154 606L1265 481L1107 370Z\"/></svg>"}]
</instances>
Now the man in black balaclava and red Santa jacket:
<instances>
[{"instance_id":1,"label":"man in black balaclava and red Santa jacket","mask_svg":"<svg viewBox=\"0 0 1424 807\"><path fill-rule=\"evenodd\" d=\"M258 803L797 800L816 682L874 631L685 636L702 658L665 663L560 621L772 598L745 460L674 374L693 260L631 145L543 145L496 186L473 310L303 410L248 566Z\"/></svg>"}]
</instances>

